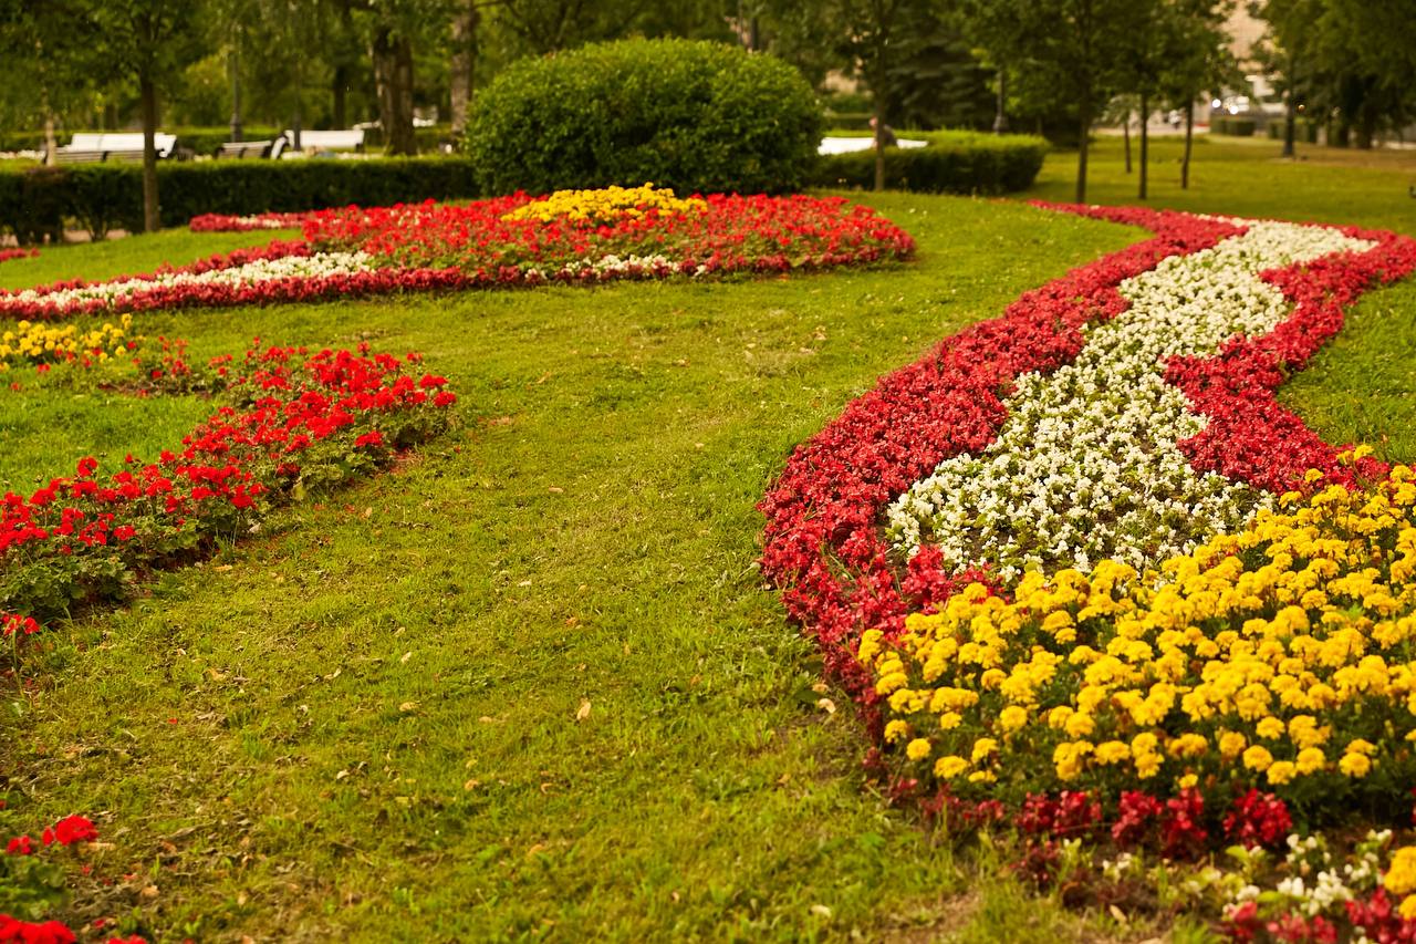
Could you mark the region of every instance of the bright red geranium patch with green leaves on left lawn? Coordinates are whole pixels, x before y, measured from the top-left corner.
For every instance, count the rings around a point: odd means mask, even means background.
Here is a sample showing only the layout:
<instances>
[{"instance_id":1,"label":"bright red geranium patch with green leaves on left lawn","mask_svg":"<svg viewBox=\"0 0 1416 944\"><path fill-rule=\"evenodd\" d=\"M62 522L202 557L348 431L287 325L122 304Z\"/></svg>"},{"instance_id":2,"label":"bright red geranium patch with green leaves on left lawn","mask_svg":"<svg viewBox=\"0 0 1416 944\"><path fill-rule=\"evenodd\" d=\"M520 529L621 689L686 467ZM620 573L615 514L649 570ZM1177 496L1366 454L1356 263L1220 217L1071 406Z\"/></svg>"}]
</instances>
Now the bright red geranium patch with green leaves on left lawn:
<instances>
[{"instance_id":1,"label":"bright red geranium patch with green leaves on left lawn","mask_svg":"<svg viewBox=\"0 0 1416 944\"><path fill-rule=\"evenodd\" d=\"M180 451L149 465L129 456L108 481L84 459L72 478L4 495L0 605L28 614L7 626L33 632L34 615L118 597L137 573L200 554L217 534L244 533L306 485L368 472L440 429L456 403L445 377L405 373L413 354L253 347L239 373L227 360L204 386L228 404ZM169 369L190 371L180 360Z\"/></svg>"}]
</instances>

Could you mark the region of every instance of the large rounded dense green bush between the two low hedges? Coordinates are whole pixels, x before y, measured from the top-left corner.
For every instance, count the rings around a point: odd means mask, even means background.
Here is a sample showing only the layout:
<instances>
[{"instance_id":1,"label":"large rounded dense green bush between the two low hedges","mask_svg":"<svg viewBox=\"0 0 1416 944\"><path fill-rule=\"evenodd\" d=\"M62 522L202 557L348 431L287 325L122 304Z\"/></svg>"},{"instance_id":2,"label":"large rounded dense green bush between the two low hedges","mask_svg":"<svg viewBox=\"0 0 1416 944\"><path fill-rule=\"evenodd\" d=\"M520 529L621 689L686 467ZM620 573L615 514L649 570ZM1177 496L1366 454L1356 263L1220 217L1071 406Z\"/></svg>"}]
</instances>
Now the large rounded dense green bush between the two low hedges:
<instances>
[{"instance_id":1,"label":"large rounded dense green bush between the two low hedges","mask_svg":"<svg viewBox=\"0 0 1416 944\"><path fill-rule=\"evenodd\" d=\"M489 194L646 181L780 193L809 181L821 108L786 62L687 40L523 60L473 106L464 152Z\"/></svg>"}]
</instances>

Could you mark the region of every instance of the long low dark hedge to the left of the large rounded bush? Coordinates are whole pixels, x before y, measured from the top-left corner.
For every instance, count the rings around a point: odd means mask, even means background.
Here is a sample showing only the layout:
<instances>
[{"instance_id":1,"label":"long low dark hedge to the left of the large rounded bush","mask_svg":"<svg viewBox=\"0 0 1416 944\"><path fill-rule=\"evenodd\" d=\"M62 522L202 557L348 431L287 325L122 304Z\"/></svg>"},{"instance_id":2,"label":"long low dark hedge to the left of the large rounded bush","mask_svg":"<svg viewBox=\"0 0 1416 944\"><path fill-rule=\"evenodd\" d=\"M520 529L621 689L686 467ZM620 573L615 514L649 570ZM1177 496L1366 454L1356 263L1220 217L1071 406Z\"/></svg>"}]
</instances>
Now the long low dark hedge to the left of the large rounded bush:
<instances>
[{"instance_id":1,"label":"long low dark hedge to the left of the large rounded bush","mask_svg":"<svg viewBox=\"0 0 1416 944\"><path fill-rule=\"evenodd\" d=\"M164 227L185 225L201 213L295 213L477 196L472 164L457 157L164 162L157 166L157 189ZM0 227L31 244L62 231L65 220L95 237L140 231L143 169L105 163L0 172Z\"/></svg>"}]
</instances>

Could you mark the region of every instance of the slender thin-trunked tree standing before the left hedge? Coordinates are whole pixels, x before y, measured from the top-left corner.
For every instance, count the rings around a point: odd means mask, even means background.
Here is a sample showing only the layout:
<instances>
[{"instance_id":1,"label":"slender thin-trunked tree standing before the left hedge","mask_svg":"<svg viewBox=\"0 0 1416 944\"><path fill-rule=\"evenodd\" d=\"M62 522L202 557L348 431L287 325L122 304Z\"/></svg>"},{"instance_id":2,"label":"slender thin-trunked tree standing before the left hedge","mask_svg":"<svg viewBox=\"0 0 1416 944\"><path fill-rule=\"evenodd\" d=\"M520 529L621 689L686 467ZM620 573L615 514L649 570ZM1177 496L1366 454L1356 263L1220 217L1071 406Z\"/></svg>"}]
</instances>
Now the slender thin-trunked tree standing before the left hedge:
<instances>
[{"instance_id":1,"label":"slender thin-trunked tree standing before the left hedge","mask_svg":"<svg viewBox=\"0 0 1416 944\"><path fill-rule=\"evenodd\" d=\"M159 92L204 51L205 0L85 0L108 57L136 81L143 122L143 228L161 227L157 196Z\"/></svg>"}]
</instances>

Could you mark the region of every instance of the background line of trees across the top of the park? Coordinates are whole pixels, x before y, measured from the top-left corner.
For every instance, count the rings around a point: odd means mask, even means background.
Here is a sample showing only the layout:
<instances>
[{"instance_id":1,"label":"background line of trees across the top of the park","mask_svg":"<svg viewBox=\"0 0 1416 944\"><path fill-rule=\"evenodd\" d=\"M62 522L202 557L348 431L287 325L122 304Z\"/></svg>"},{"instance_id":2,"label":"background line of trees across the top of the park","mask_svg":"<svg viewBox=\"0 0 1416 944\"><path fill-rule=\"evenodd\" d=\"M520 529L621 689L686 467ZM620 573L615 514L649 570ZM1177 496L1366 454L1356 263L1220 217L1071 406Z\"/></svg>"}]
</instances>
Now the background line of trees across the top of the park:
<instances>
[{"instance_id":1,"label":"background line of trees across the top of the park","mask_svg":"<svg viewBox=\"0 0 1416 944\"><path fill-rule=\"evenodd\" d=\"M372 119L388 153L411 154L415 112L436 112L456 140L476 91L515 60L674 35L775 54L818 85L854 77L881 128L1012 128L1075 143L1085 200L1087 133L1109 103L1178 109L1188 140L1201 95L1242 88L1225 28L1235 1L0 0L0 129L52 139L137 120L152 139L157 125L236 115L293 130ZM1298 113L1357 146L1416 118L1410 3L1249 6L1269 24L1256 55L1289 102L1290 147Z\"/></svg>"}]
</instances>

